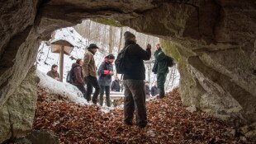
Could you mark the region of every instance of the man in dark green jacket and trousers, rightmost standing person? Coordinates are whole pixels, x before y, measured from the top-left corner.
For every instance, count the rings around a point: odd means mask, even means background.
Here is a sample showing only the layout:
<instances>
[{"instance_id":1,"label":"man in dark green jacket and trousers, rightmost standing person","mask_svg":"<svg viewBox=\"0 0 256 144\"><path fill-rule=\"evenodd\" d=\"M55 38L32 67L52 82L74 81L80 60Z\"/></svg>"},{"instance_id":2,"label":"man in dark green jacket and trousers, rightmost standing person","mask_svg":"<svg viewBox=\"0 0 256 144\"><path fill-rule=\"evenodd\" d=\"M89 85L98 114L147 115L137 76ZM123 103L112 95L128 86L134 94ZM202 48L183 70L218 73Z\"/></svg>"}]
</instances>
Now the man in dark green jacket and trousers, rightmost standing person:
<instances>
[{"instance_id":1,"label":"man in dark green jacket and trousers, rightmost standing person","mask_svg":"<svg viewBox=\"0 0 256 144\"><path fill-rule=\"evenodd\" d=\"M159 86L159 98L164 98L164 83L168 74L168 56L164 54L160 44L156 44L156 51L154 52L155 63L152 69L154 74L157 74L157 82Z\"/></svg>"}]
</instances>

